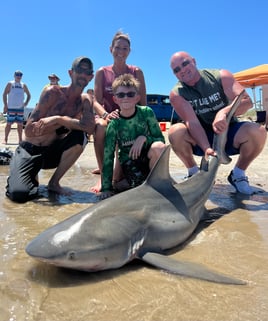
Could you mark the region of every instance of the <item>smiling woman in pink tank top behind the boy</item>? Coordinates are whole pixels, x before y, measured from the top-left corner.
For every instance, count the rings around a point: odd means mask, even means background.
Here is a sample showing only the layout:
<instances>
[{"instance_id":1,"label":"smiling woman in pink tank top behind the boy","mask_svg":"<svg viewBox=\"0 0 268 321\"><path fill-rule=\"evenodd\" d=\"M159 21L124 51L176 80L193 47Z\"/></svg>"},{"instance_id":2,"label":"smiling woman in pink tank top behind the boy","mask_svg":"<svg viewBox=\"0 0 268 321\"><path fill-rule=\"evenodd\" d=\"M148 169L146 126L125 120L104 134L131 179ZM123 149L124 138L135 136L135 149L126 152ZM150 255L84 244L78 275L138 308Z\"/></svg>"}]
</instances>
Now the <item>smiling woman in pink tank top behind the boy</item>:
<instances>
[{"instance_id":1,"label":"smiling woman in pink tank top behind the boy","mask_svg":"<svg viewBox=\"0 0 268 321\"><path fill-rule=\"evenodd\" d=\"M98 168L93 171L99 174L102 171L103 151L105 131L109 121L118 117L119 106L113 99L112 83L114 79L122 74L129 73L134 75L140 82L140 105L146 105L146 86L142 70L133 65L128 65L126 60L130 54L130 38L128 34L121 31L117 32L110 46L110 52L113 56L113 64L101 67L95 76L94 95L98 103L95 111L99 117L96 117L96 131L94 133L94 148ZM116 157L117 159L117 157ZM118 161L115 162L114 180L122 179L122 171ZM101 181L91 188L93 192L99 192Z\"/></svg>"}]
</instances>

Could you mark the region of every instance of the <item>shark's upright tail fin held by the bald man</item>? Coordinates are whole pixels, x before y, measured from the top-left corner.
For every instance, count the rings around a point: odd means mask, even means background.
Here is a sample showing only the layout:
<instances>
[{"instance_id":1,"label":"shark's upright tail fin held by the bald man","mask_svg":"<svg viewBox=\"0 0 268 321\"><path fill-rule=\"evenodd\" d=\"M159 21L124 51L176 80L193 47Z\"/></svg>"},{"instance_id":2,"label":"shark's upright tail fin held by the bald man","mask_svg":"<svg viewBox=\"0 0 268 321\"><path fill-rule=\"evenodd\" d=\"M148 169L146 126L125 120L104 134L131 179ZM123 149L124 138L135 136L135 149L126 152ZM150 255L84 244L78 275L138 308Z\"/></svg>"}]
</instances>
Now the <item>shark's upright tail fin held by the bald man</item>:
<instances>
[{"instance_id":1,"label":"shark's upright tail fin held by the bald man","mask_svg":"<svg viewBox=\"0 0 268 321\"><path fill-rule=\"evenodd\" d=\"M242 100L244 94L245 94L245 90L243 90L233 100L231 110L228 113L228 115L226 116L226 121L227 121L228 126L230 124L230 121L231 121L237 107L241 103L241 100ZM225 153L227 133L228 133L228 129L223 134L220 134L220 135L215 134L214 139L213 139L213 147L212 148L216 151L217 157L219 158L220 163L222 163L222 164L229 164L231 162L231 158Z\"/></svg>"}]
</instances>

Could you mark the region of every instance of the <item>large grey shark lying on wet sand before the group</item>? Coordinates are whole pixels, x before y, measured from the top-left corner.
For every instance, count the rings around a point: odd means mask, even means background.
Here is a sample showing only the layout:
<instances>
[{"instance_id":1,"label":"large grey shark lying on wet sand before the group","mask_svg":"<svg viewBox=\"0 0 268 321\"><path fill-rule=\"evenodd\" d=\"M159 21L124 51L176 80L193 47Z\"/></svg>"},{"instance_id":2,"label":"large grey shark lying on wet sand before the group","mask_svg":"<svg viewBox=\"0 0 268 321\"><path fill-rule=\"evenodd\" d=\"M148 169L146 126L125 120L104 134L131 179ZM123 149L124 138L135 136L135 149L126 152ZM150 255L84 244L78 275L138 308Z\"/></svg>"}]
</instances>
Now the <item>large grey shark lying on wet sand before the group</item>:
<instances>
[{"instance_id":1,"label":"large grey shark lying on wet sand before the group","mask_svg":"<svg viewBox=\"0 0 268 321\"><path fill-rule=\"evenodd\" d=\"M233 103L234 113L242 93ZM217 156L203 158L200 172L176 183L169 173L167 146L147 180L134 189L100 201L48 228L26 247L26 252L56 266L96 272L120 268L134 259L187 277L225 284L244 281L181 262L164 254L183 244L194 232L205 209L224 154L226 134L216 136Z\"/></svg>"}]
</instances>

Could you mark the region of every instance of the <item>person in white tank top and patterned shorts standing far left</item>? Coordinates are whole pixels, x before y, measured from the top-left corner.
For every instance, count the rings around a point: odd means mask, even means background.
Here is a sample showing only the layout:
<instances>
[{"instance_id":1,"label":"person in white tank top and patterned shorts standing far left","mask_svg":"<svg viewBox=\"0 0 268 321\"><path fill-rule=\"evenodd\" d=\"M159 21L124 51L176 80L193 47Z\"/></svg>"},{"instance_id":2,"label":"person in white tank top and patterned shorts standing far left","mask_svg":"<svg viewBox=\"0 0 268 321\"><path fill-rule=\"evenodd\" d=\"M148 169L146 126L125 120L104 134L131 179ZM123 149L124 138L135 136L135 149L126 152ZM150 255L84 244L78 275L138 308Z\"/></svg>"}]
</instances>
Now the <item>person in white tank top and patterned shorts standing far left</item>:
<instances>
[{"instance_id":1,"label":"person in white tank top and patterned shorts standing far left","mask_svg":"<svg viewBox=\"0 0 268 321\"><path fill-rule=\"evenodd\" d=\"M8 136L12 124L17 124L19 143L22 140L24 107L26 107L31 99L30 91L26 84L21 81L23 73L16 70L14 80L7 83L3 92L4 114L7 114L7 123L5 127L5 138L3 144L7 144ZM25 99L26 95L26 100Z\"/></svg>"}]
</instances>

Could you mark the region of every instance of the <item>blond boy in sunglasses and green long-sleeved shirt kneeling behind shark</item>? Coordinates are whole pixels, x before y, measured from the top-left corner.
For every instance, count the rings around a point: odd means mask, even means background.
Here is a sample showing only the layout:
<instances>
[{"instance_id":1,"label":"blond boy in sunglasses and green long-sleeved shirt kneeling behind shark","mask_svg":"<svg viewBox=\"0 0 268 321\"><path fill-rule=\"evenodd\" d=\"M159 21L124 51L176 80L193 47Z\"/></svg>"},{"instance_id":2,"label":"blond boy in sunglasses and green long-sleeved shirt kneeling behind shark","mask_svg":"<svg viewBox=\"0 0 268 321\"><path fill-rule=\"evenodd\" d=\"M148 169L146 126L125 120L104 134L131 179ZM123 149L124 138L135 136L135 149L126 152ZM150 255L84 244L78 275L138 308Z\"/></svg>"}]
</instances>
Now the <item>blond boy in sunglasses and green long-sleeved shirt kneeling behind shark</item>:
<instances>
[{"instance_id":1,"label":"blond boy in sunglasses and green long-sleeved shirt kneeling behind shark","mask_svg":"<svg viewBox=\"0 0 268 321\"><path fill-rule=\"evenodd\" d=\"M131 74L117 77L112 90L119 117L106 129L100 199L113 195L113 169L116 146L129 188L142 184L165 148L165 139L153 110L138 106L140 83Z\"/></svg>"}]
</instances>

